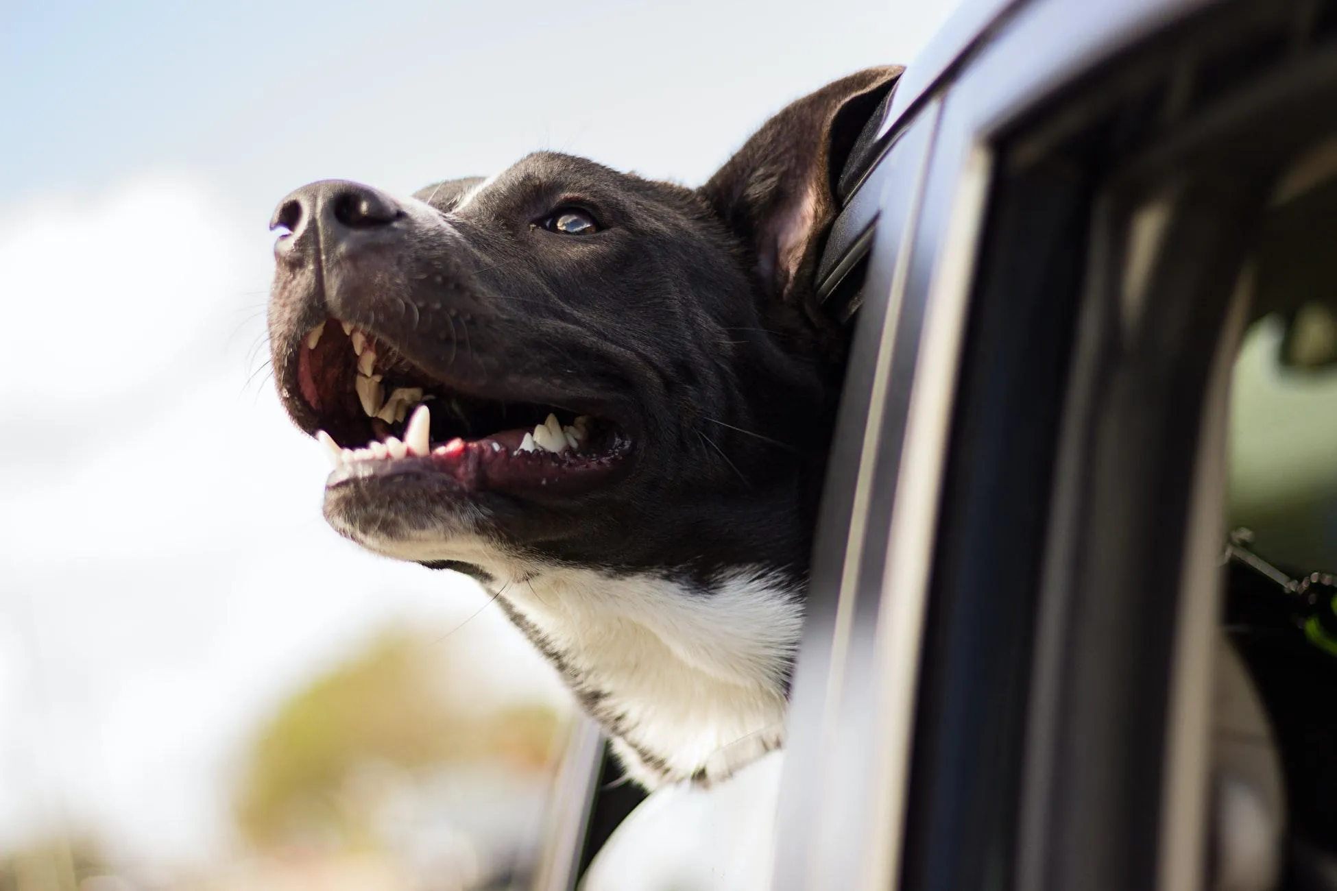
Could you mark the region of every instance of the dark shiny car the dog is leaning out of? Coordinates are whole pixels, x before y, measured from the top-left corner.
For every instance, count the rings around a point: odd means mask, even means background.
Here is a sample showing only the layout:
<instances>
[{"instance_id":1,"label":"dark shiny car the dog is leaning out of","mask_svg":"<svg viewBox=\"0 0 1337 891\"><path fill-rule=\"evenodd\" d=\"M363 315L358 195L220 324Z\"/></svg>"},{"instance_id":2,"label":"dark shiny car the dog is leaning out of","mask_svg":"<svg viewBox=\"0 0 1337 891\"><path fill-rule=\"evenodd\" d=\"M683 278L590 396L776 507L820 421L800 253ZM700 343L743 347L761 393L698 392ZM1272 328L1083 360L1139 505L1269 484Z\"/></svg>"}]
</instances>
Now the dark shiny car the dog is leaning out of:
<instances>
[{"instance_id":1,"label":"dark shiny car the dog is leaning out of","mask_svg":"<svg viewBox=\"0 0 1337 891\"><path fill-rule=\"evenodd\" d=\"M765 878L711 887L1337 888L1333 110L1333 0L975 0L910 64L818 273ZM670 844L615 779L586 728L544 891Z\"/></svg>"}]
</instances>

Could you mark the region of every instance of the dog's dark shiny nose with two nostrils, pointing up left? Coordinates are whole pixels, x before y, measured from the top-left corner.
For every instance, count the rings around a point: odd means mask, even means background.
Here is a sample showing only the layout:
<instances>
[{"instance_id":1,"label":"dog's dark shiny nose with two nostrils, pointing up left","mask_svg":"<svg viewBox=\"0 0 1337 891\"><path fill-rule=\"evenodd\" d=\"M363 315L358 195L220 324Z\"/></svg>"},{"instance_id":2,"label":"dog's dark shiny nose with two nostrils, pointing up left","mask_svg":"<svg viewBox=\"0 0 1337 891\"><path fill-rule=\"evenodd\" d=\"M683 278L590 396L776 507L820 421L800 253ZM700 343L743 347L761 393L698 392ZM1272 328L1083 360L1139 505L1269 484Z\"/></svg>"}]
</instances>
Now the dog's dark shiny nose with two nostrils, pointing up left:
<instances>
[{"instance_id":1,"label":"dog's dark shiny nose with two nostrils, pointing up left","mask_svg":"<svg viewBox=\"0 0 1337 891\"><path fill-rule=\"evenodd\" d=\"M274 246L274 252L283 256L310 240L303 238L309 230L318 231L320 235L312 232L317 238L346 240L356 232L388 226L401 214L393 198L370 186L326 179L302 186L281 200L269 227L287 230Z\"/></svg>"}]
</instances>

